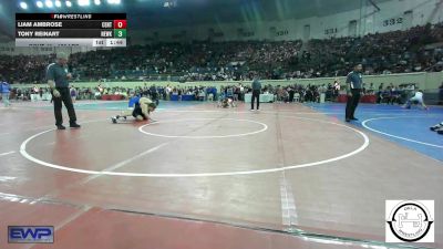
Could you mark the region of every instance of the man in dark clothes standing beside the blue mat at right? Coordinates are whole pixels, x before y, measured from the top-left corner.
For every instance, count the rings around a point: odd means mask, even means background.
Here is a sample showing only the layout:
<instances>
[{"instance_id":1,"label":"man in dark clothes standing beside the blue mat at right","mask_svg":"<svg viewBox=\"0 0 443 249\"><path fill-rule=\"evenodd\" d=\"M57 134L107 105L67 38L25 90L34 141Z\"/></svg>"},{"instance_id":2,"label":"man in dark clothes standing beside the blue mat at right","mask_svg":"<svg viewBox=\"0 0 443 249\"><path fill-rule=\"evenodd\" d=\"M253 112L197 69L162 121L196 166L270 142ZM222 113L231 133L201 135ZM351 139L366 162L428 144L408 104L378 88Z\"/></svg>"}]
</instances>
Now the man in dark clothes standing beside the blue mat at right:
<instances>
[{"instance_id":1,"label":"man in dark clothes standing beside the blue mat at right","mask_svg":"<svg viewBox=\"0 0 443 249\"><path fill-rule=\"evenodd\" d=\"M348 102L346 108L346 122L358 121L354 117L354 112L357 105L359 104L361 96L361 89L363 86L363 80L361 75L361 71L363 70L362 64L357 64L353 68L353 71L350 72L347 76L347 93L348 93Z\"/></svg>"}]
</instances>

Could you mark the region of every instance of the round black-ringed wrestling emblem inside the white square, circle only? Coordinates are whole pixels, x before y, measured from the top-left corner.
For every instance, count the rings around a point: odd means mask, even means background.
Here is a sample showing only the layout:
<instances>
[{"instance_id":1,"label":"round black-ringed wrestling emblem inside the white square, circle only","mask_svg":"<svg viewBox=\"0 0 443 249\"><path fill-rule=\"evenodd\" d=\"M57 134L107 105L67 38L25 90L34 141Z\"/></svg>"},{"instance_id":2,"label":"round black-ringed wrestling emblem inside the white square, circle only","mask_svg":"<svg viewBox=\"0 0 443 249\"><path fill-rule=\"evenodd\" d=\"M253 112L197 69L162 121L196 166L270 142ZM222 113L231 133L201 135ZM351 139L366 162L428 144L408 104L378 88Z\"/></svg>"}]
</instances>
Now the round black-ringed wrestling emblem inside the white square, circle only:
<instances>
[{"instance_id":1,"label":"round black-ringed wrestling emblem inside the white square, circle only","mask_svg":"<svg viewBox=\"0 0 443 249\"><path fill-rule=\"evenodd\" d=\"M427 235L434 221L426 206L420 201L406 200L391 210L387 222L398 239L414 242Z\"/></svg>"}]
</instances>

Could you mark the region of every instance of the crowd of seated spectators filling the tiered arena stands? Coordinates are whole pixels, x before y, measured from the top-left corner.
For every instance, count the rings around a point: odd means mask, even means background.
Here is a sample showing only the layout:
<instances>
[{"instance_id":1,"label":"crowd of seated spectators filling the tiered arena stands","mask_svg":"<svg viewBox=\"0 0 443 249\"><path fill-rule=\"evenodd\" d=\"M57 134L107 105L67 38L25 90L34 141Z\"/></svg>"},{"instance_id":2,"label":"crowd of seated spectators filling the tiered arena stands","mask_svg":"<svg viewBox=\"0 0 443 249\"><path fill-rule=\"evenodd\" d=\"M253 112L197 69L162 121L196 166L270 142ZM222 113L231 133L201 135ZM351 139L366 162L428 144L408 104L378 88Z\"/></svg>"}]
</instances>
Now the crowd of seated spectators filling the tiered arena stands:
<instances>
[{"instance_id":1,"label":"crowd of seated spectators filling the tiered arena stands","mask_svg":"<svg viewBox=\"0 0 443 249\"><path fill-rule=\"evenodd\" d=\"M259 72L260 79L291 80L346 75L357 63L364 63L365 74L441 71L443 50L431 45L439 42L442 23L361 38L313 39L306 46L301 41L157 43L74 53L70 61L74 79L84 81L241 81L253 80L250 71ZM54 54L0 55L0 72L11 83L41 83L53 60Z\"/></svg>"}]
</instances>

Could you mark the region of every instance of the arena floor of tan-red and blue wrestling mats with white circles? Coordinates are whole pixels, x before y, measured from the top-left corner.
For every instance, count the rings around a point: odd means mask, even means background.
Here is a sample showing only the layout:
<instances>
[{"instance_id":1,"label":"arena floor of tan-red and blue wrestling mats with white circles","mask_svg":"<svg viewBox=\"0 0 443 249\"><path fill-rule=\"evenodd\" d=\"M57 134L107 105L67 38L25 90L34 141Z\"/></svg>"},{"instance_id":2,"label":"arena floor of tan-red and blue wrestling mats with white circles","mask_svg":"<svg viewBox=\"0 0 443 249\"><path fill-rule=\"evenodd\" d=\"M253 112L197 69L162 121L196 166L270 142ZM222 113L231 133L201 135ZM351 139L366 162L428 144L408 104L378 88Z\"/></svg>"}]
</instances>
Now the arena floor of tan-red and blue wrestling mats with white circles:
<instances>
[{"instance_id":1,"label":"arena floor of tan-red and blue wrestling mats with white circles","mask_svg":"<svg viewBox=\"0 0 443 249\"><path fill-rule=\"evenodd\" d=\"M435 200L413 246L443 247L441 107L162 102L112 124L126 107L78 102L66 131L49 103L0 111L0 248L411 248L384 243L387 199ZM8 243L14 225L55 242Z\"/></svg>"}]
</instances>

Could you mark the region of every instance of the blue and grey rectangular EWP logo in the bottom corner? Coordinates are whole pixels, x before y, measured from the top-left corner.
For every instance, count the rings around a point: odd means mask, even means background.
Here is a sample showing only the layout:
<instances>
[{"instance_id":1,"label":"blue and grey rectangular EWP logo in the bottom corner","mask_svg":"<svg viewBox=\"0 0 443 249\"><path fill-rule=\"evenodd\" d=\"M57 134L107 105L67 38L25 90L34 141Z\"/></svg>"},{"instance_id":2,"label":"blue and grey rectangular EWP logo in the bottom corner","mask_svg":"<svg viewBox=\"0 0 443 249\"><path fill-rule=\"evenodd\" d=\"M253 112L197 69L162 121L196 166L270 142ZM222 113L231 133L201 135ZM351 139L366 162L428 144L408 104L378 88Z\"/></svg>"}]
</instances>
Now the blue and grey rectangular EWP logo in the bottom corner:
<instances>
[{"instance_id":1,"label":"blue and grey rectangular EWP logo in the bottom corner","mask_svg":"<svg viewBox=\"0 0 443 249\"><path fill-rule=\"evenodd\" d=\"M52 226L9 226L8 242L10 243L53 243L54 227Z\"/></svg>"}]
</instances>

